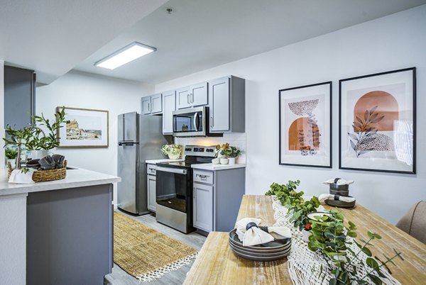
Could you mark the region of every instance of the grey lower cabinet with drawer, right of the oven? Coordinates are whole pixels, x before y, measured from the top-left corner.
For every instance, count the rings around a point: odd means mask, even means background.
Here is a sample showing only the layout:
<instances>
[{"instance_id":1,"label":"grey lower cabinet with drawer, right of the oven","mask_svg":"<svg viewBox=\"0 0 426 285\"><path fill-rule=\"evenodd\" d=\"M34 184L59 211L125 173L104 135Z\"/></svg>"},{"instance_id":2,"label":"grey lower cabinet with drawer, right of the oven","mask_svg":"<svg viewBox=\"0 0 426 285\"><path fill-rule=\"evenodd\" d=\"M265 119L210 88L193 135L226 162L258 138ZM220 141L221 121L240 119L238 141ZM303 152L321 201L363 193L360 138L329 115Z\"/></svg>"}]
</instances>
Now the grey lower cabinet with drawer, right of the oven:
<instances>
[{"instance_id":1,"label":"grey lower cabinet with drawer, right of the oven","mask_svg":"<svg viewBox=\"0 0 426 285\"><path fill-rule=\"evenodd\" d=\"M245 190L245 167L214 171L194 169L194 227L207 233L232 230Z\"/></svg>"}]
</instances>

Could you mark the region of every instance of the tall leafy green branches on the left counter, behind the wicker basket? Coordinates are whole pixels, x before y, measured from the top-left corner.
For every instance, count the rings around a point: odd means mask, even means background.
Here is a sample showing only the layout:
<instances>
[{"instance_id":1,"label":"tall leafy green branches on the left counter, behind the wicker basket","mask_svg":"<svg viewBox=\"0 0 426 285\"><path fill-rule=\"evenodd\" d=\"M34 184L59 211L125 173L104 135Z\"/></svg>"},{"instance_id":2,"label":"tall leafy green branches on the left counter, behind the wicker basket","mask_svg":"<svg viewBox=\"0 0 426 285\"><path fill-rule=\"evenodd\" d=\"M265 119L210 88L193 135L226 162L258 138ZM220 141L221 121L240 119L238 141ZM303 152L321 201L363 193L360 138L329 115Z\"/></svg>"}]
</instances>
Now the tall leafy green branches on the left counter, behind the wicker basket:
<instances>
[{"instance_id":1,"label":"tall leafy green branches on the left counter, behind the wicker basket","mask_svg":"<svg viewBox=\"0 0 426 285\"><path fill-rule=\"evenodd\" d=\"M6 145L14 145L17 148L16 168L21 168L21 150L25 147L29 151L44 150L47 151L59 146L59 138L56 136L56 130L61 128L65 122L65 108L55 113L55 120L50 121L41 116L32 116L31 124L21 129L6 125L6 138L3 138ZM35 157L32 157L35 158ZM40 158L40 157L38 157Z\"/></svg>"}]
</instances>

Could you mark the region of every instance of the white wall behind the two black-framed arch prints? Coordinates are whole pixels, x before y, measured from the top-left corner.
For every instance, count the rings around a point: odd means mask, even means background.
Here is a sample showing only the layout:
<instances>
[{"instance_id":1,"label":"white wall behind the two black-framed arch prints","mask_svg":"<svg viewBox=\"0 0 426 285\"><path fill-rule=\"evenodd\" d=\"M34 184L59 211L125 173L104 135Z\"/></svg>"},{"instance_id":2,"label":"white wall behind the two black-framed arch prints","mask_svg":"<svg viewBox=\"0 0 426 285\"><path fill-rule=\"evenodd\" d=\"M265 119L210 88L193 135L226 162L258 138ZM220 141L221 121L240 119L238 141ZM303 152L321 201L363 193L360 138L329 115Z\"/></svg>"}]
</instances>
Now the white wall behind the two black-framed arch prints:
<instances>
[{"instance_id":1,"label":"white wall behind the two black-framed arch prints","mask_svg":"<svg viewBox=\"0 0 426 285\"><path fill-rule=\"evenodd\" d=\"M395 223L426 200L426 5L281 47L244 60L163 82L155 92L232 74L246 79L246 193L263 194L273 182L300 179L307 194L327 192L322 181L353 179L351 195ZM267 31L266 31L267 32ZM285 35L283 35L285 36ZM339 170L339 79L417 67L417 174ZM278 90L333 81L333 168L278 165Z\"/></svg>"}]
</instances>

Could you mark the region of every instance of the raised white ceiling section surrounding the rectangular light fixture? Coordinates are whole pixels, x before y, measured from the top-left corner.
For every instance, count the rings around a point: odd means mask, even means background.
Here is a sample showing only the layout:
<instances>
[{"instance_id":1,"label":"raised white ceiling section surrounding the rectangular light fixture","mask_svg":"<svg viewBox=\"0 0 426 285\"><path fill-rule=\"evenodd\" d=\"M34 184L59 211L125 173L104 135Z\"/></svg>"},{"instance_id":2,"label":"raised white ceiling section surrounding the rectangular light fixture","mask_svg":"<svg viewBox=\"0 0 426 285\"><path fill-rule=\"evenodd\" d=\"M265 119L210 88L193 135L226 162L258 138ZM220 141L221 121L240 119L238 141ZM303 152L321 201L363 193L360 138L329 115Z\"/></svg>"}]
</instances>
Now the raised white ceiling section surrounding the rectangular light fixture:
<instances>
[{"instance_id":1,"label":"raised white ceiling section surrounding the rectangular light fixture","mask_svg":"<svg viewBox=\"0 0 426 285\"><path fill-rule=\"evenodd\" d=\"M425 4L425 0L170 0L76 69L159 83ZM165 9L171 7L168 15ZM138 41L157 51L114 70L94 62Z\"/></svg>"}]
</instances>

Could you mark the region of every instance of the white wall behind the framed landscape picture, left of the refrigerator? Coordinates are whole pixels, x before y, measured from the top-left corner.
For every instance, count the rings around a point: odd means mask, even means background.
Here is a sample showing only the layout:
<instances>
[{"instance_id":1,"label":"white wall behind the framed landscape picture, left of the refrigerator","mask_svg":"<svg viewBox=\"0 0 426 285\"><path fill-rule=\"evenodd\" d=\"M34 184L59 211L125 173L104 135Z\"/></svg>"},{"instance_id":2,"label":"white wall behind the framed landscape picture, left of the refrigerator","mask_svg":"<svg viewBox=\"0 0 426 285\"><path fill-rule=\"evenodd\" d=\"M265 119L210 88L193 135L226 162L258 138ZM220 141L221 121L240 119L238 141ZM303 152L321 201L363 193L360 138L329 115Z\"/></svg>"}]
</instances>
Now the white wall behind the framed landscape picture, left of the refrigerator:
<instances>
[{"instance_id":1,"label":"white wall behind the framed landscape picture, left of the refrigerator","mask_svg":"<svg viewBox=\"0 0 426 285\"><path fill-rule=\"evenodd\" d=\"M69 72L36 91L36 113L53 118L57 106L92 108L109 111L109 147L58 148L55 153L65 155L69 165L117 174L117 116L138 111L141 97L153 93L153 86L114 79L84 72ZM115 192L115 191L114 191ZM114 193L114 201L116 201Z\"/></svg>"}]
</instances>

